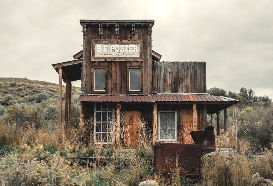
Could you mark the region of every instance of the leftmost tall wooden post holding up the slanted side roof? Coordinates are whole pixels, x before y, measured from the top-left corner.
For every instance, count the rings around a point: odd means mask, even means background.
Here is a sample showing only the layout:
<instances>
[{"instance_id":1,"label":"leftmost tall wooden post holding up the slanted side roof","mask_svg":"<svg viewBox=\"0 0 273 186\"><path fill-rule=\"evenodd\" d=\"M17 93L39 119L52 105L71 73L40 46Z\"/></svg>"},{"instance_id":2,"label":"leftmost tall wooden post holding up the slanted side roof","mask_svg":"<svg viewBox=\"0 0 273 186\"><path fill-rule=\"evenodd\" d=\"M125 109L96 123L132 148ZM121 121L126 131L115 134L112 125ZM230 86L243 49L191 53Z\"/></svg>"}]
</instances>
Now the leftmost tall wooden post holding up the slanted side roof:
<instances>
[{"instance_id":1,"label":"leftmost tall wooden post holding up the slanted side roof","mask_svg":"<svg viewBox=\"0 0 273 186\"><path fill-rule=\"evenodd\" d=\"M58 67L59 69L59 115L58 115L58 141L61 143L61 136L62 136L62 68Z\"/></svg>"}]
</instances>

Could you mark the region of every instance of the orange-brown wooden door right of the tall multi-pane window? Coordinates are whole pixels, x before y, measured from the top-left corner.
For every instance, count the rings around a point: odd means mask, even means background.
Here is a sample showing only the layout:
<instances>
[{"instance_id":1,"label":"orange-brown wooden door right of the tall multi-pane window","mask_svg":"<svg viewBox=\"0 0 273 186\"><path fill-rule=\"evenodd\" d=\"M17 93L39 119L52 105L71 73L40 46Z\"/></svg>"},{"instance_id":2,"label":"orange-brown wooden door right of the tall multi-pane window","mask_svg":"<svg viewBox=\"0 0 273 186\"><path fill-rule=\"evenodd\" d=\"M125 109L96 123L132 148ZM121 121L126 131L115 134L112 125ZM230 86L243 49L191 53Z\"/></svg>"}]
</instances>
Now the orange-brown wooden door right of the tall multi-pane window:
<instances>
[{"instance_id":1,"label":"orange-brown wooden door right of the tall multi-pane window","mask_svg":"<svg viewBox=\"0 0 273 186\"><path fill-rule=\"evenodd\" d=\"M140 119L140 111L124 111L124 140L127 148L138 147Z\"/></svg>"}]
</instances>

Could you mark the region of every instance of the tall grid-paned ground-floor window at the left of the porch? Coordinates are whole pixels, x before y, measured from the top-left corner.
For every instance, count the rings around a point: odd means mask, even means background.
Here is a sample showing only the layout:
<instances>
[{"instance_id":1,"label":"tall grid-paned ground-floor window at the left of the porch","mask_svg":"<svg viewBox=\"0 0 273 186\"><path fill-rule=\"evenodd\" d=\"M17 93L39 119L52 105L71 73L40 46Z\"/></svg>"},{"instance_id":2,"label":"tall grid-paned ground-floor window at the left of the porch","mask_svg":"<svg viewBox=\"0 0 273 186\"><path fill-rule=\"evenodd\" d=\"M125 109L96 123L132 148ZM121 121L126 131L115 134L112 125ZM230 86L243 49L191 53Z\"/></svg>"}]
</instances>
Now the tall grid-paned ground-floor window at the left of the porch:
<instances>
[{"instance_id":1,"label":"tall grid-paned ground-floor window at the left of the porch","mask_svg":"<svg viewBox=\"0 0 273 186\"><path fill-rule=\"evenodd\" d=\"M96 142L113 142L114 135L114 105L95 104L95 140Z\"/></svg>"}]
</instances>

